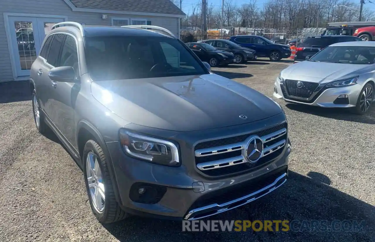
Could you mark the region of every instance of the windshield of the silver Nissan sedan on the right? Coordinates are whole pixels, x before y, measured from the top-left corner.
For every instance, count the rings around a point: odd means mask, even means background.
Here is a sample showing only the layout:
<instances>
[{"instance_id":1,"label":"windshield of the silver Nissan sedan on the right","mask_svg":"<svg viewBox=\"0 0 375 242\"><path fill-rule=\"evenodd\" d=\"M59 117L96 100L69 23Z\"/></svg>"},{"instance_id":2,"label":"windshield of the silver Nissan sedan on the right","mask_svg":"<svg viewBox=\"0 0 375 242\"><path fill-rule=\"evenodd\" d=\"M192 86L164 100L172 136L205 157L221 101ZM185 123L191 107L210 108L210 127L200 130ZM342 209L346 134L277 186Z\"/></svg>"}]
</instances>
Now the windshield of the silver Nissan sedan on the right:
<instances>
[{"instance_id":1,"label":"windshield of the silver Nissan sedan on the right","mask_svg":"<svg viewBox=\"0 0 375 242\"><path fill-rule=\"evenodd\" d=\"M375 47L329 46L318 52L310 60L314 62L372 64L374 59Z\"/></svg>"}]
</instances>

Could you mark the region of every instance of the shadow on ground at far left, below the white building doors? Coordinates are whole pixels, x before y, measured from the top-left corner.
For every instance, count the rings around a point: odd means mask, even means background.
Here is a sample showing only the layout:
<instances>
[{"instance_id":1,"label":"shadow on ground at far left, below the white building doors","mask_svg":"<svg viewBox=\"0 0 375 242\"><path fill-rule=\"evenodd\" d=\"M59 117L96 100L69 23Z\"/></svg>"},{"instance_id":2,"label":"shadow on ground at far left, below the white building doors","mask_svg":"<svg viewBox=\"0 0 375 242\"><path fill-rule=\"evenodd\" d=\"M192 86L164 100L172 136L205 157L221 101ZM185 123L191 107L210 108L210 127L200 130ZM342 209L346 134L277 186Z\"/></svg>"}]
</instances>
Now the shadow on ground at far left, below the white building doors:
<instances>
[{"instance_id":1,"label":"shadow on ground at far left, below the white building doors","mask_svg":"<svg viewBox=\"0 0 375 242\"><path fill-rule=\"evenodd\" d=\"M7 81L0 83L0 103L30 101L28 81Z\"/></svg>"}]
</instances>

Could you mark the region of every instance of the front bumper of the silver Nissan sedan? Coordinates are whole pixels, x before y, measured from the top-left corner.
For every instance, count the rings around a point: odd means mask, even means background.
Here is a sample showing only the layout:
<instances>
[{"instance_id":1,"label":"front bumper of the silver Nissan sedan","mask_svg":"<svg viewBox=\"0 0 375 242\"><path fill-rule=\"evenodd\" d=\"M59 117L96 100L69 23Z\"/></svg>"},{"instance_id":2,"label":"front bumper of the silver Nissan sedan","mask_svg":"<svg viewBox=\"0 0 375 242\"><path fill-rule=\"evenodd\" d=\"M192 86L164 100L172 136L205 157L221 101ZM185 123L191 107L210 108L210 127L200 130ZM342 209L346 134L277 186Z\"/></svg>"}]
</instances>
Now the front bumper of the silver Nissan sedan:
<instances>
[{"instance_id":1,"label":"front bumper of the silver Nissan sedan","mask_svg":"<svg viewBox=\"0 0 375 242\"><path fill-rule=\"evenodd\" d=\"M278 78L276 78L275 84L274 84L274 93L273 96L275 98L284 99L287 102L297 103L297 104L306 104L311 106L318 106L318 107L329 107L329 108L348 108L348 107L355 107L357 104L358 96L362 90L362 86L360 84L355 84L353 86L349 87L338 87L338 88L329 88L324 90L321 93L317 93L317 96L314 97L313 101L304 101L304 100L298 100L295 98L291 98L288 96L285 96L285 91L283 93L281 89L280 82ZM335 100L340 95L348 95L348 104L335 104Z\"/></svg>"}]
</instances>

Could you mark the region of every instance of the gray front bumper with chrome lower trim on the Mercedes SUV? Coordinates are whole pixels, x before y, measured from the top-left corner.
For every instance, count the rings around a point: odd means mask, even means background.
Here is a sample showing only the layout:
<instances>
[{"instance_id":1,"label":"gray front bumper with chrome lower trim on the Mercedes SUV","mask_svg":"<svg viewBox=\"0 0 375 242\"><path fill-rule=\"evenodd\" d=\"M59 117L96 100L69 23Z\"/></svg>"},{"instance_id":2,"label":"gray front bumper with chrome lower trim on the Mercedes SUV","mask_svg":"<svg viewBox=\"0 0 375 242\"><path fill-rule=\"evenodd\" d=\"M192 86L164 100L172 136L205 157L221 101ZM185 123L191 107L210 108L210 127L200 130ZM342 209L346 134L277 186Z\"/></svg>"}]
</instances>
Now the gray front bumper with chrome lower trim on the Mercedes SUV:
<instances>
[{"instance_id":1,"label":"gray front bumper with chrome lower trim on the Mercedes SUV","mask_svg":"<svg viewBox=\"0 0 375 242\"><path fill-rule=\"evenodd\" d=\"M272 192L287 179L291 151L288 140L282 155L272 162L247 173L212 179L187 167L186 162L190 161L184 159L184 151L181 151L183 163L180 167L166 167L130 158L118 142L106 144L113 163L120 206L136 215L178 220L225 212ZM194 160L191 162L195 165ZM138 183L162 186L165 192L154 204L134 202L129 194L132 186ZM238 192L233 193L234 190Z\"/></svg>"}]
</instances>

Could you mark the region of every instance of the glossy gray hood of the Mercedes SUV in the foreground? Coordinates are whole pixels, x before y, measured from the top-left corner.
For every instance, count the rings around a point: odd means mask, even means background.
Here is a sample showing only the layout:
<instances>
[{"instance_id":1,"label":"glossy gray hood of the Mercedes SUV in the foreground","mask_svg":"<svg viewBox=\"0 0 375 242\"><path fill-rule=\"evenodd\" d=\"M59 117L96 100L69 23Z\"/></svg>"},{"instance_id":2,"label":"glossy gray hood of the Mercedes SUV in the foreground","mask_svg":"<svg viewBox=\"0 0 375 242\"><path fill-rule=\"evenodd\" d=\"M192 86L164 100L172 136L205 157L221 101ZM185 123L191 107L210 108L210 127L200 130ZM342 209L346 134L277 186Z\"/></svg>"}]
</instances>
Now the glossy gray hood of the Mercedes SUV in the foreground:
<instances>
[{"instance_id":1,"label":"glossy gray hood of the Mercedes SUV in the foreground","mask_svg":"<svg viewBox=\"0 0 375 242\"><path fill-rule=\"evenodd\" d=\"M172 131L240 125L282 112L267 96L216 74L96 81L91 91L128 122Z\"/></svg>"}]
</instances>

